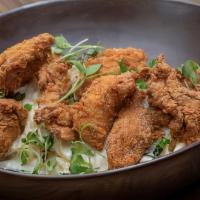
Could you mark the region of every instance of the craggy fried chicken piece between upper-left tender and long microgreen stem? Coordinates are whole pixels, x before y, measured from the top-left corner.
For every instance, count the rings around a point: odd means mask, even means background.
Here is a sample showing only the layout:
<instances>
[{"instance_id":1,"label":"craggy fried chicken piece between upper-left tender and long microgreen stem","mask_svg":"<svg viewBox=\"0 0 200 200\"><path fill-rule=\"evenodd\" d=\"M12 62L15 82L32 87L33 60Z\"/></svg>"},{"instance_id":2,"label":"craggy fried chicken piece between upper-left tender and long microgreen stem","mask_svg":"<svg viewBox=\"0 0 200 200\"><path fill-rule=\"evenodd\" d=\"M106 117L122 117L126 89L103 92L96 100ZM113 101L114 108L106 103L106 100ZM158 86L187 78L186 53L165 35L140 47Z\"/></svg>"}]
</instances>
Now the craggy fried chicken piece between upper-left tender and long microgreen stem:
<instances>
[{"instance_id":1,"label":"craggy fried chicken piece between upper-left tender and long microgreen stem","mask_svg":"<svg viewBox=\"0 0 200 200\"><path fill-rule=\"evenodd\" d=\"M38 72L38 86L42 94L39 104L58 101L70 87L68 65L60 57L50 59Z\"/></svg>"}]
</instances>

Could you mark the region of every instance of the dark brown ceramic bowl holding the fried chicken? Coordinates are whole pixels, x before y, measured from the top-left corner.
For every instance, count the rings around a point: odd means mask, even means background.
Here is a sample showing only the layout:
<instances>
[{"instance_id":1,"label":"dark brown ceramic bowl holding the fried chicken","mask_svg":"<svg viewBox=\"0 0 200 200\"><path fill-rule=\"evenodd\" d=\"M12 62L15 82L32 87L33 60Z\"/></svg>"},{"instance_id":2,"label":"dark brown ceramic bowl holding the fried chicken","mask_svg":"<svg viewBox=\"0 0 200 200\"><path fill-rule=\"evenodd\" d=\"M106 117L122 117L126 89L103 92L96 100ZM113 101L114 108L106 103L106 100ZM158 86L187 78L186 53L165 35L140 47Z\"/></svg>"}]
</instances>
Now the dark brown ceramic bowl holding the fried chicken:
<instances>
[{"instance_id":1,"label":"dark brown ceramic bowl holding the fried chicken","mask_svg":"<svg viewBox=\"0 0 200 200\"><path fill-rule=\"evenodd\" d=\"M172 65L200 59L200 7L156 0L36 3L0 15L0 50L42 32L70 41L166 54ZM200 177L200 143L152 162L89 175L37 176L0 169L1 199L151 199Z\"/></svg>"}]
</instances>

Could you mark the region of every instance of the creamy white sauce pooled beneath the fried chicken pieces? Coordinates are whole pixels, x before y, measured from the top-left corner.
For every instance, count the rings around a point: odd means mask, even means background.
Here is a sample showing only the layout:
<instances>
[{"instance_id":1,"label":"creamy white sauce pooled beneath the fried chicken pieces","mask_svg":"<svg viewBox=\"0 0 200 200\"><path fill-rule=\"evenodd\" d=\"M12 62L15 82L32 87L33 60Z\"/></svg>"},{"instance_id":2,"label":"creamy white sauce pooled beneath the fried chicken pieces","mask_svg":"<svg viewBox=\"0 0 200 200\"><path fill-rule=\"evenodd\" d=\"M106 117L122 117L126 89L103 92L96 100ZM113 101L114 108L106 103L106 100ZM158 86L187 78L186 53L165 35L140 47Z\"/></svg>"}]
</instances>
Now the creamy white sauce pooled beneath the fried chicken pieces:
<instances>
[{"instance_id":1,"label":"creamy white sauce pooled beneath the fried chicken pieces","mask_svg":"<svg viewBox=\"0 0 200 200\"><path fill-rule=\"evenodd\" d=\"M76 80L79 78L79 72L77 71L75 67L72 67L72 69L69 70L69 75L70 75L70 81L72 84L76 82ZM39 134L41 135L46 135L49 133L42 126L36 125L33 120L35 110L38 109L38 104L37 104L36 99L40 95L36 82L33 81L32 83L26 85L25 87L20 88L18 91L26 93L26 97L22 101L22 104L25 105L29 103L29 104L32 104L33 107L32 107L32 110L28 112L28 120L27 120L27 124L25 126L23 134L13 143L9 152L9 155L10 155L9 158L5 161L1 161L0 167L5 168L5 169L15 170L15 171L24 171L27 173L32 173L33 168L36 164L36 159L32 160L31 162L29 162L27 165L24 165L24 166L22 166L20 163L19 150L23 145L21 142L21 139L24 138L28 134L28 132L35 131L36 129L38 129ZM144 107L145 108L149 107L147 99L145 99L144 101ZM169 129L164 128L163 135L170 138ZM185 144L179 143L176 145L174 151L177 151L183 148L184 146ZM154 147L155 147L155 144L153 144L148 149L148 153L152 154ZM55 159L56 159L57 165L56 165L55 170L51 174L69 174L70 173L69 166L70 166L70 159L71 159L70 143L60 141L59 139L54 138L53 151L56 152ZM94 150L94 152L95 152L95 156L90 158L93 168L96 169L97 171L108 170L106 150L104 149L102 152L97 152ZM169 153L171 152L169 151L169 148L167 145L160 156L164 156ZM83 155L83 157L85 160L88 159L87 156ZM144 155L140 162L142 163L142 162L147 162L151 160L153 160L152 157ZM41 174L48 174L48 172L46 171L46 169L43 169L41 171Z\"/></svg>"}]
</instances>

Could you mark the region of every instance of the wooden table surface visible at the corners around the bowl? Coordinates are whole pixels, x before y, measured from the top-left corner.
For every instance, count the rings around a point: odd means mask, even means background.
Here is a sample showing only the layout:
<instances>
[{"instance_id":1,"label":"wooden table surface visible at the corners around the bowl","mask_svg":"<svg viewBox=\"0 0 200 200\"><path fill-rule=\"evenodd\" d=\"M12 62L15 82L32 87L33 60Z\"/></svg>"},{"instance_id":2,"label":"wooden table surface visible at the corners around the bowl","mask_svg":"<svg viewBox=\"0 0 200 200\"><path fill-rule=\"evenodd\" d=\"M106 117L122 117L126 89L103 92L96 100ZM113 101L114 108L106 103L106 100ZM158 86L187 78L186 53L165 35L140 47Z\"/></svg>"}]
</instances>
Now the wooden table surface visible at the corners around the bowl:
<instances>
[{"instance_id":1,"label":"wooden table surface visible at the corners around the bowl","mask_svg":"<svg viewBox=\"0 0 200 200\"><path fill-rule=\"evenodd\" d=\"M10 9L25 5L27 3L38 2L38 1L39 0L0 0L0 12L6 12ZM200 4L200 0L183 0L183 1ZM200 181L186 188L184 192L182 191L179 194L175 195L173 199L178 199L178 200L200 199Z\"/></svg>"}]
</instances>

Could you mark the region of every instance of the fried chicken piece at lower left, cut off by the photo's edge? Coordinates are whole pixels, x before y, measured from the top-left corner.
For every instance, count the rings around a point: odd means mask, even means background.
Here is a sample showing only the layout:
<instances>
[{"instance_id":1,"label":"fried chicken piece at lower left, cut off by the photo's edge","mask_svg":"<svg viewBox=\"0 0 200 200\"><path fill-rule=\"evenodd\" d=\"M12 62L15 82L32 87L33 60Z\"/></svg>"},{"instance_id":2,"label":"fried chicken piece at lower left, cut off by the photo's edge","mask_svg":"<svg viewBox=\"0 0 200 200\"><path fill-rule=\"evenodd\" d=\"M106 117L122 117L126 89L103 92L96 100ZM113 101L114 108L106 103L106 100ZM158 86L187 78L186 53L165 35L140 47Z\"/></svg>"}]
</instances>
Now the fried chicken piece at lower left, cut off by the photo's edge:
<instances>
[{"instance_id":1,"label":"fried chicken piece at lower left, cut off by the photo's edge","mask_svg":"<svg viewBox=\"0 0 200 200\"><path fill-rule=\"evenodd\" d=\"M13 142L24 130L27 111L12 99L0 99L0 160L6 158Z\"/></svg>"}]
</instances>

